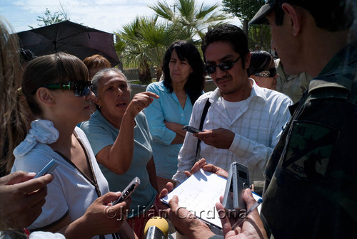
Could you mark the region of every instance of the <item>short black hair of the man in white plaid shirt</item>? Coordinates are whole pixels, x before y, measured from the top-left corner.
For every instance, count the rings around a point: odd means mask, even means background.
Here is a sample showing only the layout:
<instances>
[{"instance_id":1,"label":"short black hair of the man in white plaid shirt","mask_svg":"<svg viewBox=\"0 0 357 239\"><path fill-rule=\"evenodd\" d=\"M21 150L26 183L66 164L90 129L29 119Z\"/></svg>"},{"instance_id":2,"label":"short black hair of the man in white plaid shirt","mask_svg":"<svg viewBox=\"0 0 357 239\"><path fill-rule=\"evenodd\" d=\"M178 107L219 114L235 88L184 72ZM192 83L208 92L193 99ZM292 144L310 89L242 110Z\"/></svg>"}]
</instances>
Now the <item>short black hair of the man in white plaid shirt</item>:
<instances>
[{"instance_id":1,"label":"short black hair of the man in white plaid shirt","mask_svg":"<svg viewBox=\"0 0 357 239\"><path fill-rule=\"evenodd\" d=\"M248 40L241 28L231 24L223 24L211 29L206 33L202 39L201 49L203 52L203 59L206 62L206 48L209 44L217 41L224 41L231 43L234 51L241 56L242 66L244 68L245 56L249 52Z\"/></svg>"}]
</instances>

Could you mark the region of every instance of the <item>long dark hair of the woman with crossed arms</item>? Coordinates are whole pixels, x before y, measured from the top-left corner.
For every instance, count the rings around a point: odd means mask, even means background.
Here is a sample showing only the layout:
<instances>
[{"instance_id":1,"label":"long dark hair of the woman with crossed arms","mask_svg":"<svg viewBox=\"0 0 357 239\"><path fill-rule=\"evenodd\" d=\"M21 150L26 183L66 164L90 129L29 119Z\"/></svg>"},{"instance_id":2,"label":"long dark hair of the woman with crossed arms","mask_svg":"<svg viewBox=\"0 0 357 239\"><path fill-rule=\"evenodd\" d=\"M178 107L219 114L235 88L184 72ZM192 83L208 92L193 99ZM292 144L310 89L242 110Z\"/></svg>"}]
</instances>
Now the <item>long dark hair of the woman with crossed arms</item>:
<instances>
[{"instance_id":1,"label":"long dark hair of the woman with crossed arms","mask_svg":"<svg viewBox=\"0 0 357 239\"><path fill-rule=\"evenodd\" d=\"M172 51L176 51L176 54L180 60L187 60L188 64L193 70L193 72L188 76L188 80L185 84L185 91L193 105L198 97L202 94L202 90L205 84L205 71L203 70L204 64L201 58L201 54L198 52L196 46L188 41L176 41L171 44L165 53L162 64L164 73L164 85L169 89L170 92L174 90L171 84L169 68Z\"/></svg>"}]
</instances>

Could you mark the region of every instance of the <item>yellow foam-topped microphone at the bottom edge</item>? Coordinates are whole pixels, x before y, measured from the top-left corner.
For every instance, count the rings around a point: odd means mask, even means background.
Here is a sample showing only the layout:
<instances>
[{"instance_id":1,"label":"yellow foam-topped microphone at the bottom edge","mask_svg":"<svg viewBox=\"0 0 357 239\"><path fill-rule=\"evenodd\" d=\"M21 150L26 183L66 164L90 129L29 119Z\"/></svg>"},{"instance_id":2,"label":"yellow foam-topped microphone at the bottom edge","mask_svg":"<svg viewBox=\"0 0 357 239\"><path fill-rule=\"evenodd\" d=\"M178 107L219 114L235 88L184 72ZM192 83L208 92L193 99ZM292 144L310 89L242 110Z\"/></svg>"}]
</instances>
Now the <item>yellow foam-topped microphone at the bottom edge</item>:
<instances>
[{"instance_id":1,"label":"yellow foam-topped microphone at the bottom edge","mask_svg":"<svg viewBox=\"0 0 357 239\"><path fill-rule=\"evenodd\" d=\"M167 238L169 223L165 218L154 217L149 219L145 225L144 233L146 239L164 239Z\"/></svg>"}]
</instances>

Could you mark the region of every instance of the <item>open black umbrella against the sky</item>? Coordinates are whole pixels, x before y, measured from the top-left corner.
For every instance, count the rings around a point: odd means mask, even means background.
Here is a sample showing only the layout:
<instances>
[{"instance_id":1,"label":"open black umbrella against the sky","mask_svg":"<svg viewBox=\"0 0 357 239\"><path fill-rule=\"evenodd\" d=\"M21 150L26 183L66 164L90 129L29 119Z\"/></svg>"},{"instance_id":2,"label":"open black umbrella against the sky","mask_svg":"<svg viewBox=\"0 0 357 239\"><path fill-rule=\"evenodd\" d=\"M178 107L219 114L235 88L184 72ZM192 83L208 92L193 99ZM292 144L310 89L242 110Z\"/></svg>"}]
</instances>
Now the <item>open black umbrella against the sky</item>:
<instances>
[{"instance_id":1,"label":"open black umbrella against the sky","mask_svg":"<svg viewBox=\"0 0 357 239\"><path fill-rule=\"evenodd\" d=\"M112 66L119 64L114 48L114 34L71 21L21 31L17 35L21 48L30 49L35 55L64 51L84 60L88 56L100 54L107 58Z\"/></svg>"}]
</instances>

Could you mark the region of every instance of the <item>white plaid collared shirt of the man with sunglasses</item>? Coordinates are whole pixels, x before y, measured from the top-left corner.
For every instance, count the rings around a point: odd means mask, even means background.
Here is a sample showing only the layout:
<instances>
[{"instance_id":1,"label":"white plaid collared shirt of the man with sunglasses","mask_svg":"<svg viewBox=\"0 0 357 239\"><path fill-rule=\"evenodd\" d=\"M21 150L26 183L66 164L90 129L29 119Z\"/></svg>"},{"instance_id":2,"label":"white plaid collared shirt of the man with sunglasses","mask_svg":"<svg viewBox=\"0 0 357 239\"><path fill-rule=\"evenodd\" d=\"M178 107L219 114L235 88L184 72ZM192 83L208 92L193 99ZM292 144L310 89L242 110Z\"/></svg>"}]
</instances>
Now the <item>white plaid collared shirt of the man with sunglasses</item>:
<instances>
[{"instance_id":1,"label":"white plaid collared shirt of the man with sunglasses","mask_svg":"<svg viewBox=\"0 0 357 239\"><path fill-rule=\"evenodd\" d=\"M251 79L253 81L253 79ZM221 93L217 88L198 98L190 119L190 125L198 128L203 107L209 99L209 107L203 129L229 129L235 137L229 149L217 149L201 142L200 157L209 164L215 164L225 170L233 161L248 166L251 182L263 180L266 160L273 152L281 131L290 119L288 106L292 101L286 95L275 90L259 87L253 81L251 95L237 109L236 117L230 119L223 107ZM183 171L190 170L195 163L197 138L187 133L183 147L178 154L178 171L173 179L181 183L186 179Z\"/></svg>"}]
</instances>

